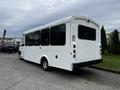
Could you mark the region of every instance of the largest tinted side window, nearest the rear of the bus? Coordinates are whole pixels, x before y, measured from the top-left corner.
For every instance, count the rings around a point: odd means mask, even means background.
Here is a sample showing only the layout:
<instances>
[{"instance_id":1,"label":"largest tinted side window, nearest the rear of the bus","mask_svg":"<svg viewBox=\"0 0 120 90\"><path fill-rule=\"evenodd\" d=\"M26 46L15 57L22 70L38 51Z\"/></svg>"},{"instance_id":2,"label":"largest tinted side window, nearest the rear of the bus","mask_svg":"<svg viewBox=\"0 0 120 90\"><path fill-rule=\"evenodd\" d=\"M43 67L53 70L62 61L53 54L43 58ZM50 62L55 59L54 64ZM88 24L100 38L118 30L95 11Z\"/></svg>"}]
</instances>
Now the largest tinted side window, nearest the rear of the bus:
<instances>
[{"instance_id":1,"label":"largest tinted side window, nearest the rear of the bus","mask_svg":"<svg viewBox=\"0 0 120 90\"><path fill-rule=\"evenodd\" d=\"M65 45L66 41L66 25L61 24L51 27L50 30L50 43L51 45Z\"/></svg>"}]
</instances>

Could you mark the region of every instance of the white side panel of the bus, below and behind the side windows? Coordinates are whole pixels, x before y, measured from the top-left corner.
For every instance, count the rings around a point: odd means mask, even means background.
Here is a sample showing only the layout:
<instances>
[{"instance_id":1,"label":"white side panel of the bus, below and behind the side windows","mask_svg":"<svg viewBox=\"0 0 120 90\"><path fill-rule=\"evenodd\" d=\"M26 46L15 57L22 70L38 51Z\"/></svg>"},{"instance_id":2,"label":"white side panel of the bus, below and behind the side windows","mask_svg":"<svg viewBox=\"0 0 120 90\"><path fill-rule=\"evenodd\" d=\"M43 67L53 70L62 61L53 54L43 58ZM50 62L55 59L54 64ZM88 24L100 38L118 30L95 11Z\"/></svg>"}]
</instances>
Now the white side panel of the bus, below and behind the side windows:
<instances>
[{"instance_id":1,"label":"white side panel of the bus, below and behind the side windows","mask_svg":"<svg viewBox=\"0 0 120 90\"><path fill-rule=\"evenodd\" d=\"M40 64L41 58L46 57L49 66L66 70L72 70L70 57L70 22L66 23L66 44L64 46L23 46L22 51L25 60ZM24 49L23 49L24 48ZM58 58L56 58L56 56Z\"/></svg>"}]
</instances>

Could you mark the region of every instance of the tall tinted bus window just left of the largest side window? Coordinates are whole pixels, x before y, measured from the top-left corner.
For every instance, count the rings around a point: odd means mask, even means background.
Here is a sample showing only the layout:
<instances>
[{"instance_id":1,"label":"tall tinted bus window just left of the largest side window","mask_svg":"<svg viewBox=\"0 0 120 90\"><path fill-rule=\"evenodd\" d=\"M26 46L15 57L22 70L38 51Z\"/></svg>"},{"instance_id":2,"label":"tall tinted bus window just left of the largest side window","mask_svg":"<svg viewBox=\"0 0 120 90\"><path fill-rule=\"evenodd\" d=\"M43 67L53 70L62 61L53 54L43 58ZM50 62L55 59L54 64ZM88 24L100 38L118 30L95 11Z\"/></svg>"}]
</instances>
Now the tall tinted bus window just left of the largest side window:
<instances>
[{"instance_id":1,"label":"tall tinted bus window just left of the largest side window","mask_svg":"<svg viewBox=\"0 0 120 90\"><path fill-rule=\"evenodd\" d=\"M41 30L41 45L49 45L49 28Z\"/></svg>"}]
</instances>

